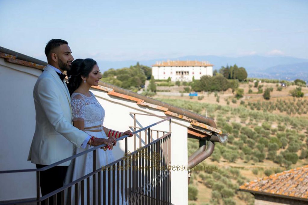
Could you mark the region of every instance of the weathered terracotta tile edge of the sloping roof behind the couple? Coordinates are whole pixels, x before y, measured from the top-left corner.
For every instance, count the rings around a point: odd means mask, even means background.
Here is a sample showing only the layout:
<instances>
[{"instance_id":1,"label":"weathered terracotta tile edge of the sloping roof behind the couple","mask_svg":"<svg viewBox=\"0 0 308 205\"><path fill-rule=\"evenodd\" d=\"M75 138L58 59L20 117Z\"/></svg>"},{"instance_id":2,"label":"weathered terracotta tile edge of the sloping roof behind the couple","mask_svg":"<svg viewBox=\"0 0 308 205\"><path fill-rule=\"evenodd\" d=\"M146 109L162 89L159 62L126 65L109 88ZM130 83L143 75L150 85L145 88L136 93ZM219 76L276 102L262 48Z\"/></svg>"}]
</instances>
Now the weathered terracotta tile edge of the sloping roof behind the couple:
<instances>
[{"instance_id":1,"label":"weathered terracotta tile edge of the sloping roof behind the couple","mask_svg":"<svg viewBox=\"0 0 308 205\"><path fill-rule=\"evenodd\" d=\"M9 55L9 54L2 53L2 52L0 52L0 57L4 58L6 62L10 62L10 63L18 64L18 65L24 65L24 66L27 66L27 67L31 67L31 68L35 68L35 69L40 69L40 70L44 70L44 68L45 68L44 65L39 65L39 64L36 64L36 63L33 63L33 62L19 60L19 59L16 59L16 57L13 56L13 55ZM195 62L195 61L190 61L190 62ZM203 63L203 62L199 62L199 61L196 61L196 62ZM117 92L114 91L114 89L108 88L108 87L105 87L105 86L101 86L101 85L99 85L99 86L92 86L92 88L98 89L98 90L101 90L101 91L104 91L104 92L107 92L107 94L110 95L110 96L114 96L114 97L118 97L118 98L122 98L122 99L126 99L126 100L135 101L136 104L138 104L140 106L145 106L145 107L150 107L150 108L154 108L154 109L157 109L157 110L161 110L166 115L174 116L174 117L177 117L179 119L189 121L190 124L191 124L191 126L189 127L190 130L191 129L194 130L194 132L191 132L190 134L193 134L195 136L205 137L206 136L205 134L210 134L211 135L211 132L215 132L217 134L222 134L222 131L217 129L217 128L211 127L211 126L209 126L207 124L204 124L204 123L201 123L201 122L198 122L197 120L195 120L193 118L190 118L190 117L187 117L187 116L184 116L181 113L171 112L166 107L162 107L162 106L159 106L159 105L156 105L156 104L151 104L151 103L148 103L148 102L144 102L144 100L136 98L136 97L125 95L125 94L122 94L122 93L117 93ZM193 126L195 126L195 127L193 127ZM202 129L205 129L205 130L202 131Z\"/></svg>"}]
</instances>

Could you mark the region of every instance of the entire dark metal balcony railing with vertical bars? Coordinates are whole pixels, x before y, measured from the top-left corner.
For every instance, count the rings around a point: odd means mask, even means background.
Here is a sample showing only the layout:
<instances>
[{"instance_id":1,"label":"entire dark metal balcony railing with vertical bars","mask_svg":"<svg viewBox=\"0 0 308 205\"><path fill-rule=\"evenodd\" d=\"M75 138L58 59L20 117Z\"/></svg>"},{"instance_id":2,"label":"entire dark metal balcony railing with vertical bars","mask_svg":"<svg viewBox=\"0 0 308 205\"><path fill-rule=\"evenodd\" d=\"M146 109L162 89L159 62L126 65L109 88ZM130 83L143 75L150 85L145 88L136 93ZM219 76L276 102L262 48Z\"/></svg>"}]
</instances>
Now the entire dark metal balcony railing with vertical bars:
<instances>
[{"instance_id":1,"label":"entire dark metal balcony railing with vertical bars","mask_svg":"<svg viewBox=\"0 0 308 205\"><path fill-rule=\"evenodd\" d=\"M125 140L124 157L106 164L103 168L96 168L96 150L106 144L93 147L84 152L68 157L39 169L23 169L0 171L5 173L36 172L36 199L19 199L1 204L26 204L44 202L49 205L53 198L53 205L57 205L57 194L61 194L61 204L105 205L105 204L171 204L171 117L130 113L134 116L134 151L128 152L128 135L117 140ZM154 124L144 128L136 127L136 115L163 117ZM169 131L152 130L157 124L169 121ZM137 130L138 129L138 130ZM156 136L153 136L153 132ZM144 133L144 137L142 137ZM137 136L139 147L136 149ZM142 140L142 138L144 140ZM155 139L156 138L156 139ZM141 146L144 144L144 146ZM93 152L93 171L51 193L40 195L40 173L63 162L73 160L86 153ZM90 189L90 183L92 189ZM81 193L78 187L80 186ZM74 191L72 191L74 187ZM92 196L92 197L90 197ZM92 198L92 199L91 199ZM122 200L120 200L122 199ZM74 203L72 203L74 201Z\"/></svg>"}]
</instances>

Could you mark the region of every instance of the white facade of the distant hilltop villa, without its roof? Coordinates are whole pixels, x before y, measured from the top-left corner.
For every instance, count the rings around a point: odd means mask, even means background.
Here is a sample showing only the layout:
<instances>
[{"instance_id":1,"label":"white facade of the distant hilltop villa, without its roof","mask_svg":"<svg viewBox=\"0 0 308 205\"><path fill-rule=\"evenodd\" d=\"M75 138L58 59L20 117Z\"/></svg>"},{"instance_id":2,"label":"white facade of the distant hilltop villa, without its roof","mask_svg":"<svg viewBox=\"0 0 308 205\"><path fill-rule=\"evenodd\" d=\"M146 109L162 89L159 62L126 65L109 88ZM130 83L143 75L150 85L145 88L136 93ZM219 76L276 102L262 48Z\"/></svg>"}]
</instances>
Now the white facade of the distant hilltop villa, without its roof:
<instances>
[{"instance_id":1,"label":"white facade of the distant hilltop villa, without its roof","mask_svg":"<svg viewBox=\"0 0 308 205\"><path fill-rule=\"evenodd\" d=\"M187 75L177 75L176 72L186 71ZM167 80L168 77L171 81L192 81L200 80L201 76L213 76L212 66L153 66L152 75L156 80Z\"/></svg>"}]
</instances>

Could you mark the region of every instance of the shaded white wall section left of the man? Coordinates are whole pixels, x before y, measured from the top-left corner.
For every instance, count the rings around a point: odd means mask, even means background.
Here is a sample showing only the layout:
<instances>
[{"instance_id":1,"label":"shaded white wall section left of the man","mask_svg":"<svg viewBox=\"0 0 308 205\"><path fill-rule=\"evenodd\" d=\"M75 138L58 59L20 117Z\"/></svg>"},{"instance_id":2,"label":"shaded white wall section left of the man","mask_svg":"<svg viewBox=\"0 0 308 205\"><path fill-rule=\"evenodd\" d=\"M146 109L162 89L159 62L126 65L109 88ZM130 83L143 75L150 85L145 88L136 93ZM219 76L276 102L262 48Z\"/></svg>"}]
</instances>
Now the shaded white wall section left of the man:
<instances>
[{"instance_id":1,"label":"shaded white wall section left of the man","mask_svg":"<svg viewBox=\"0 0 308 205\"><path fill-rule=\"evenodd\" d=\"M27 158L35 129L33 87L41 73L0 58L1 170L35 168ZM0 201L36 195L35 172L1 174L0 182Z\"/></svg>"}]
</instances>

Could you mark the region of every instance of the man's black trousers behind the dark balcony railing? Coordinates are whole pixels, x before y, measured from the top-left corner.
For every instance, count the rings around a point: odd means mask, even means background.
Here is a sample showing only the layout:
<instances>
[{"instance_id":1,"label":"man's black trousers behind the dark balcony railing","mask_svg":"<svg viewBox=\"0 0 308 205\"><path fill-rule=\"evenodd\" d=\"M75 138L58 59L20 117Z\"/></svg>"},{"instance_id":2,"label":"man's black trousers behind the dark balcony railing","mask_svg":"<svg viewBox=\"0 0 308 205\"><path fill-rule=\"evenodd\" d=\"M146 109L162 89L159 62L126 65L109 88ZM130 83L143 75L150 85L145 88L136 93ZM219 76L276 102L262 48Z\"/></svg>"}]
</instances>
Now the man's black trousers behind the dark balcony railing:
<instances>
[{"instance_id":1,"label":"man's black trousers behind the dark balcony railing","mask_svg":"<svg viewBox=\"0 0 308 205\"><path fill-rule=\"evenodd\" d=\"M36 168L43 168L47 165L36 164ZM42 196L49 194L52 191L63 187L64 178L66 175L67 166L55 166L53 168L47 169L45 171L41 171L40 180L41 180L41 192ZM49 198L49 204L52 205L54 203L53 197ZM45 200L41 203L45 205ZM61 193L57 194L57 205L61 204ZM62 204L63 205L63 204Z\"/></svg>"}]
</instances>

